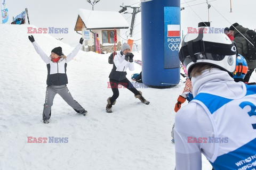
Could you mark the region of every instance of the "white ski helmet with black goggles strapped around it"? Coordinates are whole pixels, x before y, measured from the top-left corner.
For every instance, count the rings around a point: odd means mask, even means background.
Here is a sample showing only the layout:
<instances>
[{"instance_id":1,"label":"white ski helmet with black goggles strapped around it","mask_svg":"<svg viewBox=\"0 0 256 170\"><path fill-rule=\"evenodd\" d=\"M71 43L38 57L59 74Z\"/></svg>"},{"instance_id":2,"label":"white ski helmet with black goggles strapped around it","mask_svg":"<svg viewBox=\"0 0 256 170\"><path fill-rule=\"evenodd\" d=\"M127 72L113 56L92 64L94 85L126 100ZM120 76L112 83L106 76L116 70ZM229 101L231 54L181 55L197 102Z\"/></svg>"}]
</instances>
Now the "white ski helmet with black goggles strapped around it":
<instances>
[{"instance_id":1,"label":"white ski helmet with black goggles strapped around it","mask_svg":"<svg viewBox=\"0 0 256 170\"><path fill-rule=\"evenodd\" d=\"M188 76L194 65L205 63L232 74L236 68L237 49L225 33L214 33L210 27L198 28L198 33L188 33L182 40L179 59Z\"/></svg>"}]
</instances>

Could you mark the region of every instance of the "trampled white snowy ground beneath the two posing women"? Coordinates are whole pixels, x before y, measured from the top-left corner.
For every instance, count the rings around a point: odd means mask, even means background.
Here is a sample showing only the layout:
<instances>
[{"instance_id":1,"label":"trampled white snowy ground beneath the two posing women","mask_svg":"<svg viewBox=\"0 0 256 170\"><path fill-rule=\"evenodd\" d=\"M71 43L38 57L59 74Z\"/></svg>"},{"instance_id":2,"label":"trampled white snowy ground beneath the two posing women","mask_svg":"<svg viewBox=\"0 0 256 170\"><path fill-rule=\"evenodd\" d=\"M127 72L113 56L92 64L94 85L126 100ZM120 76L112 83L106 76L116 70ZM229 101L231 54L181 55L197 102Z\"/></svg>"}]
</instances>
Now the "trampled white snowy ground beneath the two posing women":
<instances>
[{"instance_id":1,"label":"trampled white snowy ground beneath the two posing women","mask_svg":"<svg viewBox=\"0 0 256 170\"><path fill-rule=\"evenodd\" d=\"M57 95L50 123L44 124L47 69L28 40L26 26L0 24L0 169L174 169L173 108L183 83L140 89L148 106L120 89L109 114L109 54L81 50L68 64L68 88L88 114L76 114ZM66 55L73 50L50 35L34 37L46 54L57 46ZM135 60L141 58L140 52L134 55ZM141 66L134 65L127 78L140 73ZM68 138L68 143L28 143L28 137ZM211 169L204 157L203 169Z\"/></svg>"}]
</instances>

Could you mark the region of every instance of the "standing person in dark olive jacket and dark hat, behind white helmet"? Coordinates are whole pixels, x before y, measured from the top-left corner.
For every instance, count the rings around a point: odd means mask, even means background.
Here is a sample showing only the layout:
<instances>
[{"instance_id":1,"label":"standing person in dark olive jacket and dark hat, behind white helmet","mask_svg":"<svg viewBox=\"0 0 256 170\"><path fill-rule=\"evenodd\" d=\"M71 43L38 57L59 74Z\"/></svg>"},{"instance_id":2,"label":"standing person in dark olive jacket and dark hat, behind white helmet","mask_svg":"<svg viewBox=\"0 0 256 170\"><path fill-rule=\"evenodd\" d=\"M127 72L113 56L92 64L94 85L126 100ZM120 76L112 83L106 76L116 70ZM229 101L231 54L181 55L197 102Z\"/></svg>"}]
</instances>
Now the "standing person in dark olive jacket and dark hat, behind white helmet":
<instances>
[{"instance_id":1,"label":"standing person in dark olive jacket and dark hat, behind white helmet","mask_svg":"<svg viewBox=\"0 0 256 170\"><path fill-rule=\"evenodd\" d=\"M234 26L234 27L233 27ZM249 30L248 28L244 28L242 25L239 25L238 23L234 23L233 25L230 26L229 31L230 33L234 33L234 41L236 43L237 51L239 54L242 54L244 56L247 65L249 67L249 70L247 74L245 75L244 82L249 82L250 77L252 75L252 72L256 68L256 61L250 61L247 59L247 54L248 54L248 45L247 45L247 40L244 38L246 35L246 31ZM242 33L239 33L239 32Z\"/></svg>"}]
</instances>

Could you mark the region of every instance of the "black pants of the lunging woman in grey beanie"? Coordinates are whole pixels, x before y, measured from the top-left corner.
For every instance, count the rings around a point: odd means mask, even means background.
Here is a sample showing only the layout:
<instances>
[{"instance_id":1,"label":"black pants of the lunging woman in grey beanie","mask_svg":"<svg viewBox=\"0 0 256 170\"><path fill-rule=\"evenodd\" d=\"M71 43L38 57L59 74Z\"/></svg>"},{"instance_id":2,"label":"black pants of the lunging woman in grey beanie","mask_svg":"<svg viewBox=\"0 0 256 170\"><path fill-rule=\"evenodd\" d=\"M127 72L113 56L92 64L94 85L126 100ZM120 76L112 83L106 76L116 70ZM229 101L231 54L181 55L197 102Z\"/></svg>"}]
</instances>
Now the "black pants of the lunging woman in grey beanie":
<instances>
[{"instance_id":1,"label":"black pants of the lunging woman in grey beanie","mask_svg":"<svg viewBox=\"0 0 256 170\"><path fill-rule=\"evenodd\" d=\"M114 103L114 101L119 96L118 88L125 87L131 92L133 92L134 95L140 94L139 91L132 85L132 83L127 78L121 81L109 79L109 82L110 82L111 89L113 91L113 96L110 98L111 104Z\"/></svg>"}]
</instances>

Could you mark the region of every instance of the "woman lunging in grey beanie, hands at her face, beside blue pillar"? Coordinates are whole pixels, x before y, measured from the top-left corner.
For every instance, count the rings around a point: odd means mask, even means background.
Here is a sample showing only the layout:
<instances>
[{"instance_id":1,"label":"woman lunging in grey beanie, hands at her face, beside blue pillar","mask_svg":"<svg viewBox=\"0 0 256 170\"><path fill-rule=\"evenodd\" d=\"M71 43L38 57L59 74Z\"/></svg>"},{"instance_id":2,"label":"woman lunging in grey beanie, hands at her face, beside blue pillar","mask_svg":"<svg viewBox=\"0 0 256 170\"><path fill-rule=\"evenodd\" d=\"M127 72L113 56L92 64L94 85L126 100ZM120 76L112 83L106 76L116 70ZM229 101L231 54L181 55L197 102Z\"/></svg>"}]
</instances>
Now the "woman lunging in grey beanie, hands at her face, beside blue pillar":
<instances>
[{"instance_id":1,"label":"woman lunging in grey beanie, hands at her face, beside blue pillar","mask_svg":"<svg viewBox=\"0 0 256 170\"><path fill-rule=\"evenodd\" d=\"M115 55L113 69L109 74L109 82L113 96L107 99L108 104L106 106L106 112L108 113L112 112L112 106L115 105L116 99L119 96L118 84L122 84L122 86L133 92L135 98L139 98L142 103L146 105L149 104L149 101L142 96L142 92L134 88L132 83L126 78L127 68L131 71L134 70L133 56L134 55L130 53L130 46L127 43L124 43L121 52L117 52Z\"/></svg>"}]
</instances>

